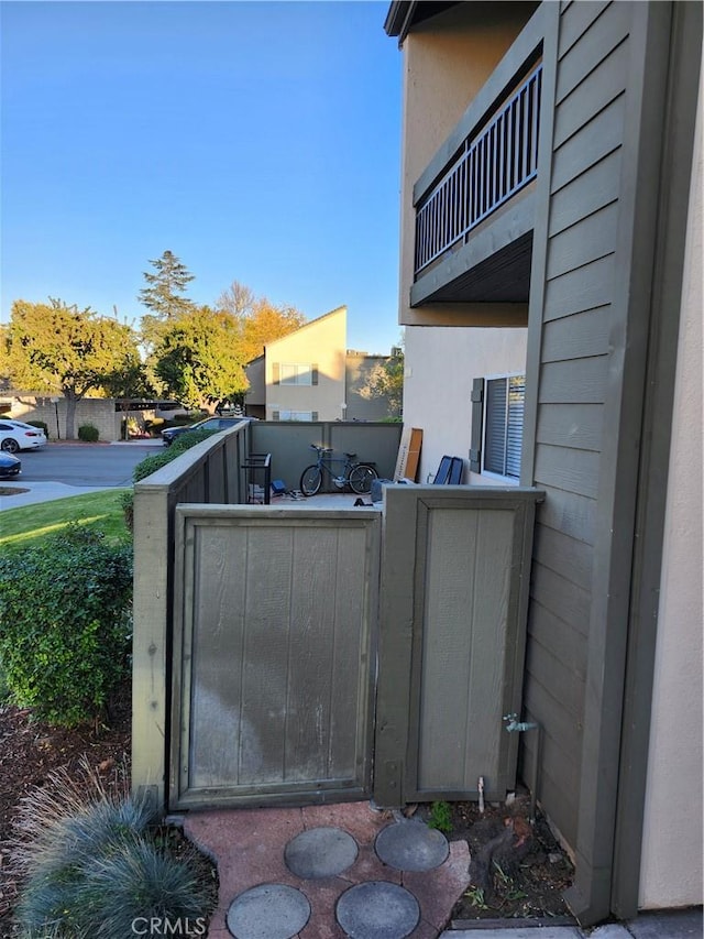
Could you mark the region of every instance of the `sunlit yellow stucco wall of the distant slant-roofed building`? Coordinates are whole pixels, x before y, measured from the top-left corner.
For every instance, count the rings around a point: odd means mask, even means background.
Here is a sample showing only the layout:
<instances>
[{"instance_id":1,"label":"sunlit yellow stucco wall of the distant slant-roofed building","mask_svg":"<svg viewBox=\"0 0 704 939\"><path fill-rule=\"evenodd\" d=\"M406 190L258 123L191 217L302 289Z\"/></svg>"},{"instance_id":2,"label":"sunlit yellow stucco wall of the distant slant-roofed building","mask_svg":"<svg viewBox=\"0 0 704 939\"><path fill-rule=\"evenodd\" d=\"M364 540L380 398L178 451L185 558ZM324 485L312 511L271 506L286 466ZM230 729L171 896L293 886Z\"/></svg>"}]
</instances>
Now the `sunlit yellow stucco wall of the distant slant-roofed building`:
<instances>
[{"instance_id":1,"label":"sunlit yellow stucco wall of the distant slant-roofed building","mask_svg":"<svg viewBox=\"0 0 704 939\"><path fill-rule=\"evenodd\" d=\"M319 421L342 418L346 307L340 307L266 346L266 418L274 412L316 412ZM315 364L317 385L274 384L278 364Z\"/></svg>"}]
</instances>

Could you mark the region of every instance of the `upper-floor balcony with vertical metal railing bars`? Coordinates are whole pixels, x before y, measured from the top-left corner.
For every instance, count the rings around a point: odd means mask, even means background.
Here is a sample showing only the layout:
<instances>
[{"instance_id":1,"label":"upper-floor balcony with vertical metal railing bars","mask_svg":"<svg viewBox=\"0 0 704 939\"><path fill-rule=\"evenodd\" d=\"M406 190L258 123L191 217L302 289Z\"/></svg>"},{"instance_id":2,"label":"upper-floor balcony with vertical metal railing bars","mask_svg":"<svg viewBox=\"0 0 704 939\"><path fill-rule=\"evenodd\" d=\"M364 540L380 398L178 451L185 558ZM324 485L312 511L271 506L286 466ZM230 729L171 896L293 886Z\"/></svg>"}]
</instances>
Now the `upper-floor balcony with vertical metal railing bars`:
<instances>
[{"instance_id":1,"label":"upper-floor balcony with vertical metal railing bars","mask_svg":"<svg viewBox=\"0 0 704 939\"><path fill-rule=\"evenodd\" d=\"M534 15L414 187L411 307L528 301L541 25Z\"/></svg>"}]
</instances>

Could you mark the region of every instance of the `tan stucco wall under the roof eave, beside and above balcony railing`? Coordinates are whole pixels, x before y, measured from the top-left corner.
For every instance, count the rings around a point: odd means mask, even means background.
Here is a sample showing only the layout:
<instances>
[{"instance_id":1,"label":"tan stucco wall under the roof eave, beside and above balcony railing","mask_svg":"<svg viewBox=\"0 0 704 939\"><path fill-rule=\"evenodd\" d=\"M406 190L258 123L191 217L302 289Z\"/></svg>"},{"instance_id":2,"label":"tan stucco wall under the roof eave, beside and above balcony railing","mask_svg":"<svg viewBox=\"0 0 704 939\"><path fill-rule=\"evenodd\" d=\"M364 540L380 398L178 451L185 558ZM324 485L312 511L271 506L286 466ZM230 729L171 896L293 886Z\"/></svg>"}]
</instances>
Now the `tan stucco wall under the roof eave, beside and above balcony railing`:
<instances>
[{"instance_id":1,"label":"tan stucco wall under the roof eave, beside and above balcony railing","mask_svg":"<svg viewBox=\"0 0 704 939\"><path fill-rule=\"evenodd\" d=\"M399 321L413 324L413 187L530 19L535 3L461 3L414 28L404 44ZM427 318L428 308L424 307ZM457 317L454 316L457 314ZM462 325L462 306L442 304Z\"/></svg>"}]
</instances>

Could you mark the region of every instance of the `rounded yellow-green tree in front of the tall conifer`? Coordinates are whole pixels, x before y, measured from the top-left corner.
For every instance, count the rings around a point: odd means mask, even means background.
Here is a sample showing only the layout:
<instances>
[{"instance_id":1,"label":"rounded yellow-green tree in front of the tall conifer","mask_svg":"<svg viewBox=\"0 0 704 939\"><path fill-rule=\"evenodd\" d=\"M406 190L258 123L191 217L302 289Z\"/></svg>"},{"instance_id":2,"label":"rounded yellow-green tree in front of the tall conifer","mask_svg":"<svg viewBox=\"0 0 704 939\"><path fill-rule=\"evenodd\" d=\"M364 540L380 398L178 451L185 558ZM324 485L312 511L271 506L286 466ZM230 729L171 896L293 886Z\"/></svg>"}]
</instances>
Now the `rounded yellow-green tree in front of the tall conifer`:
<instances>
[{"instance_id":1,"label":"rounded yellow-green tree in front of the tall conifer","mask_svg":"<svg viewBox=\"0 0 704 939\"><path fill-rule=\"evenodd\" d=\"M154 360L167 393L188 407L233 398L248 387L237 321L208 306L165 324Z\"/></svg>"}]
</instances>

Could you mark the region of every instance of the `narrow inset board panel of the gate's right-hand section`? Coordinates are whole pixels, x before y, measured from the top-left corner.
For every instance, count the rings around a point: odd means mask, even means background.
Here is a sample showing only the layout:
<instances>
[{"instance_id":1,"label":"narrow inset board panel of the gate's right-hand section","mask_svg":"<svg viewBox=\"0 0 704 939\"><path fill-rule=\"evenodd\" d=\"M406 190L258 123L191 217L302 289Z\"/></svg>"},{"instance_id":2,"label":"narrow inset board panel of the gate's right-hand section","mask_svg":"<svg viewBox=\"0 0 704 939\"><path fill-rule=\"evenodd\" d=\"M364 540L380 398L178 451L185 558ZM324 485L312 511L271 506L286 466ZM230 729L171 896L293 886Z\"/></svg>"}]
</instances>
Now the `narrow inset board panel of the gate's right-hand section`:
<instances>
[{"instance_id":1,"label":"narrow inset board panel of the gate's right-hand section","mask_svg":"<svg viewBox=\"0 0 704 939\"><path fill-rule=\"evenodd\" d=\"M498 776L513 513L436 509L425 545L419 791ZM452 688L453 694L447 694Z\"/></svg>"}]
</instances>

